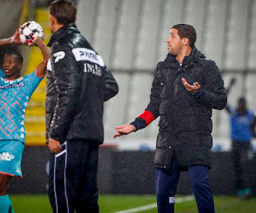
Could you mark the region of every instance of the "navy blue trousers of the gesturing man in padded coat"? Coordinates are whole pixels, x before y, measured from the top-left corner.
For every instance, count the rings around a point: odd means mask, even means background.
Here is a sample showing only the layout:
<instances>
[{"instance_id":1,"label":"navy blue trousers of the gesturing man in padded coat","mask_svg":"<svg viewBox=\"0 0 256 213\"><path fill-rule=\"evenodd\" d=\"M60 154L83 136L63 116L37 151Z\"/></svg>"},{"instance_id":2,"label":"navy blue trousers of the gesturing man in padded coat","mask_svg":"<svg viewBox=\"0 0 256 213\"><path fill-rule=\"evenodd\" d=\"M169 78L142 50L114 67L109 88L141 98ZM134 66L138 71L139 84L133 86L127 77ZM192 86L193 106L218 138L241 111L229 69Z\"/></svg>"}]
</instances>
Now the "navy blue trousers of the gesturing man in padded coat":
<instances>
[{"instance_id":1,"label":"navy blue trousers of the gesturing man in padded coat","mask_svg":"<svg viewBox=\"0 0 256 213\"><path fill-rule=\"evenodd\" d=\"M172 157L171 170L156 170L156 198L159 213L174 212L174 196L179 176L180 167L175 155ZM208 167L189 165L189 180L199 213L213 213L214 204L208 181Z\"/></svg>"}]
</instances>

